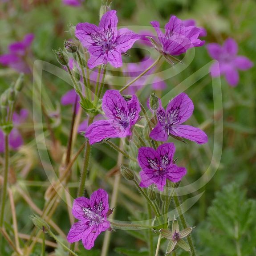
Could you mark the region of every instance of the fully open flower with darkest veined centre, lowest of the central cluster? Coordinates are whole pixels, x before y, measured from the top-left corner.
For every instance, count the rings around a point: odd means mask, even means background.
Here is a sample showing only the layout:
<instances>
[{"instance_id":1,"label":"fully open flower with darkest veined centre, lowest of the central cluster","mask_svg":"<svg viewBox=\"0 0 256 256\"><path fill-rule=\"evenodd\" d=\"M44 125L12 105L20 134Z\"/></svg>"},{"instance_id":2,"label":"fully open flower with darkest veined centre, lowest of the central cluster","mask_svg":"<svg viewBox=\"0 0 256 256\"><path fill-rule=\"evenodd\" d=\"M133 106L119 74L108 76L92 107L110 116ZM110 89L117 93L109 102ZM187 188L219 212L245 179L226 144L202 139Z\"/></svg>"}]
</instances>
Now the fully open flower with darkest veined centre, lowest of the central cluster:
<instances>
[{"instance_id":1,"label":"fully open flower with darkest veined centre, lowest of the central cluster","mask_svg":"<svg viewBox=\"0 0 256 256\"><path fill-rule=\"evenodd\" d=\"M175 153L174 143L165 143L158 146L157 150L151 147L141 147L138 150L138 163L140 171L141 187L155 184L158 190L163 191L166 179L178 182L187 173L186 168L176 166L172 159Z\"/></svg>"}]
</instances>

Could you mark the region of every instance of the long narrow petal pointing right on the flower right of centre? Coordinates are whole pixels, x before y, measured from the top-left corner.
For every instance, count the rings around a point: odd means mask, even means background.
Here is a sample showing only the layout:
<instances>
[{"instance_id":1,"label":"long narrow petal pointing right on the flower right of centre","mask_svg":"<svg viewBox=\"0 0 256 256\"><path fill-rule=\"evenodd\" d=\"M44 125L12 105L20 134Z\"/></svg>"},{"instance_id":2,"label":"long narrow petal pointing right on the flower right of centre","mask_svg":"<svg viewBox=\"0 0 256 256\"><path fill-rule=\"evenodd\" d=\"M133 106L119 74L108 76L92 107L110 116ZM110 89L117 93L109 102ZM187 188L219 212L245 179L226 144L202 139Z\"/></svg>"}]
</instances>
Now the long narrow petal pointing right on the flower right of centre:
<instances>
[{"instance_id":1,"label":"long narrow petal pointing right on the flower right of centre","mask_svg":"<svg viewBox=\"0 0 256 256\"><path fill-rule=\"evenodd\" d=\"M204 144L208 141L208 137L205 132L193 126L175 125L170 129L170 133L178 137L195 141L198 144Z\"/></svg>"}]
</instances>

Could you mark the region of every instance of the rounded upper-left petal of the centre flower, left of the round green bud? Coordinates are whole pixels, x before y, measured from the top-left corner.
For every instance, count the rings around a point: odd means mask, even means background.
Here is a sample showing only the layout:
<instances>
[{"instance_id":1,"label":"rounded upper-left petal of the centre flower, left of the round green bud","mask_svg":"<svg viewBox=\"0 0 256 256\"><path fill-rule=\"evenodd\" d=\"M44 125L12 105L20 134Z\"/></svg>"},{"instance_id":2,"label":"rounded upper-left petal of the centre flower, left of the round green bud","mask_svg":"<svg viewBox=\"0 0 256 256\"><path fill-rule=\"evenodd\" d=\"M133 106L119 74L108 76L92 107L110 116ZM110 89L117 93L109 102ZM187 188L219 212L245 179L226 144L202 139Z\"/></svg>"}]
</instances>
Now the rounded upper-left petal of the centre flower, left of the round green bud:
<instances>
[{"instance_id":1,"label":"rounded upper-left petal of the centre flower, left of the round green bud","mask_svg":"<svg viewBox=\"0 0 256 256\"><path fill-rule=\"evenodd\" d=\"M127 102L117 90L107 90L102 98L102 110L108 118L128 112Z\"/></svg>"}]
</instances>

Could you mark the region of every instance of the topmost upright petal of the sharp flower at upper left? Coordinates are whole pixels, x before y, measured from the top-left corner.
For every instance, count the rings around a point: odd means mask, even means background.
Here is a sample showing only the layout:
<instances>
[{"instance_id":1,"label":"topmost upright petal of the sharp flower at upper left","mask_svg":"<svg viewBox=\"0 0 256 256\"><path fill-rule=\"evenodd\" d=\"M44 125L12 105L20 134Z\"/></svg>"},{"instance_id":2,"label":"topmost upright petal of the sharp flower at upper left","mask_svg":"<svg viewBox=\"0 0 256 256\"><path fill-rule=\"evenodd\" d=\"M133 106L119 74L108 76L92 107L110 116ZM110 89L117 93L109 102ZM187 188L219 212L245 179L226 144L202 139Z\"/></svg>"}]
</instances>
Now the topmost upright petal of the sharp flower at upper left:
<instances>
[{"instance_id":1,"label":"topmost upright petal of the sharp flower at upper left","mask_svg":"<svg viewBox=\"0 0 256 256\"><path fill-rule=\"evenodd\" d=\"M117 24L118 24L118 17L116 15L115 10L111 10L106 12L99 23L99 29L107 35L107 40L114 42L117 35Z\"/></svg>"}]
</instances>

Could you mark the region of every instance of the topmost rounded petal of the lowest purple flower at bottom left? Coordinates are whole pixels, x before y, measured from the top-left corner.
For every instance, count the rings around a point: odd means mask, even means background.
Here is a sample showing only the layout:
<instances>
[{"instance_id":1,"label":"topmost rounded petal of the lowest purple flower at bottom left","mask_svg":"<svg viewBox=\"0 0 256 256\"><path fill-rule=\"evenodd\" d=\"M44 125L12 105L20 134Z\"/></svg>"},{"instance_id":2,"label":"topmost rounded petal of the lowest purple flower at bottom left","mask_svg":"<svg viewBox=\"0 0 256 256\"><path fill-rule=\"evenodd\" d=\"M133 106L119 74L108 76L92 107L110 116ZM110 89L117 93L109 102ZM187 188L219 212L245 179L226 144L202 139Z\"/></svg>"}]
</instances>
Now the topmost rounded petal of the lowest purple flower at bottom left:
<instances>
[{"instance_id":1,"label":"topmost rounded petal of the lowest purple flower at bottom left","mask_svg":"<svg viewBox=\"0 0 256 256\"><path fill-rule=\"evenodd\" d=\"M100 212L102 215L106 215L109 210L108 194L103 189L94 191L89 203L94 212Z\"/></svg>"}]
</instances>

